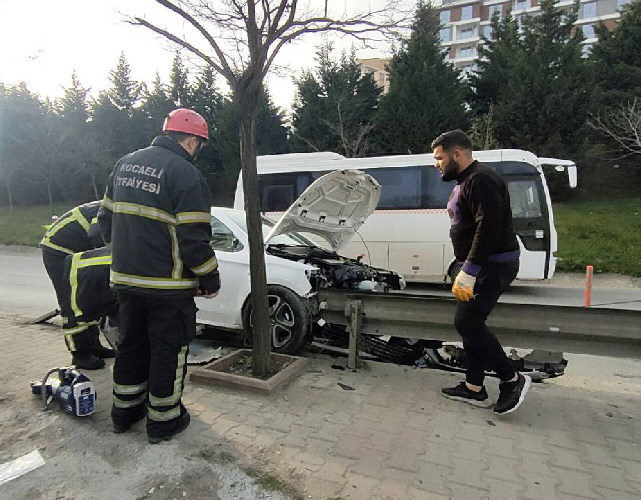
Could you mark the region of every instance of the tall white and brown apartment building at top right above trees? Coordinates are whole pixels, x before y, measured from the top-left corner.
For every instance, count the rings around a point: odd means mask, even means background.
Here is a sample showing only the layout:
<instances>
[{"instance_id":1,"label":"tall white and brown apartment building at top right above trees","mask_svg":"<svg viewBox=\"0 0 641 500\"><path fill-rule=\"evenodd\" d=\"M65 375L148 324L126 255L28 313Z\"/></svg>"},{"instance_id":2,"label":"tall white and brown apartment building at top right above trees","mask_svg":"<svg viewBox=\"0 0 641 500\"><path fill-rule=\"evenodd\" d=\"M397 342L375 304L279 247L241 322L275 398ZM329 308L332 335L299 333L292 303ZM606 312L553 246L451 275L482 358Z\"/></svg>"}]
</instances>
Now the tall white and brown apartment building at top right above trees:
<instances>
[{"instance_id":1,"label":"tall white and brown apartment building at top right above trees","mask_svg":"<svg viewBox=\"0 0 641 500\"><path fill-rule=\"evenodd\" d=\"M579 19L574 23L583 31L583 54L587 56L590 48L597 42L594 26L603 21L612 29L620 17L620 10L630 0L581 0ZM558 8L569 10L574 1L560 0ZM463 78L476 70L478 46L481 37L492 38L490 19L494 12L504 17L512 13L519 24L524 17L536 15L540 10L537 0L444 0L438 11L440 13L441 44L448 49L449 62L462 71Z\"/></svg>"}]
</instances>

